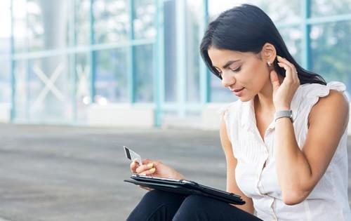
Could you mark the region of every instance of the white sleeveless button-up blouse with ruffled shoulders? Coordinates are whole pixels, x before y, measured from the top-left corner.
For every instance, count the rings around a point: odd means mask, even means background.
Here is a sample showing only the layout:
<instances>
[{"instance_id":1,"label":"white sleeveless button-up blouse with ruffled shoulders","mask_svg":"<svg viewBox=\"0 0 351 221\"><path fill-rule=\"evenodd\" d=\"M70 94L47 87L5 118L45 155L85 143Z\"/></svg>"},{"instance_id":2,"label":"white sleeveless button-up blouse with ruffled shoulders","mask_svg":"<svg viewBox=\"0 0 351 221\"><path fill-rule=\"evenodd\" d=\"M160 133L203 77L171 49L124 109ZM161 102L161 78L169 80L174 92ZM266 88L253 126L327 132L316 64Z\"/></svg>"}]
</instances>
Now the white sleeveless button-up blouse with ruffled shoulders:
<instances>
[{"instance_id":1,"label":"white sleeveless button-up blouse with ruffled shoulders","mask_svg":"<svg viewBox=\"0 0 351 221\"><path fill-rule=\"evenodd\" d=\"M318 83L298 87L291 109L293 128L300 148L307 135L307 117L312 106L330 90L343 91L345 85L331 81L326 86ZM347 95L345 95L345 99ZM347 197L347 128L326 172L307 199L293 206L286 205L279 186L274 158L274 126L272 121L265 131L264 141L256 126L253 100L236 102L220 109L224 114L227 134L237 159L235 178L241 191L251 199L255 215L263 220L351 220ZM266 162L265 168L263 168Z\"/></svg>"}]
</instances>

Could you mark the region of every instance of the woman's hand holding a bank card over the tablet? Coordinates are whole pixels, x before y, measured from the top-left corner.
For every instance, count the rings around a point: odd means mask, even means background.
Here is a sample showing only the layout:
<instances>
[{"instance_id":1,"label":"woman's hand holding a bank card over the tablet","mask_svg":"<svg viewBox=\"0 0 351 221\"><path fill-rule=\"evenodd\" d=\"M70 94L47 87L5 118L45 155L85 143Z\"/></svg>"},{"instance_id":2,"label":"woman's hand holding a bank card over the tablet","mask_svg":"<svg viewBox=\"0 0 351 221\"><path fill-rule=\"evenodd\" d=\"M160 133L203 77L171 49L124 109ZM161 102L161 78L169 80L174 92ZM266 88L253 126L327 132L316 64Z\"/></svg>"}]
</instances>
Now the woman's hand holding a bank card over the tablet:
<instances>
[{"instance_id":1,"label":"woman's hand holding a bank card over the tablet","mask_svg":"<svg viewBox=\"0 0 351 221\"><path fill-rule=\"evenodd\" d=\"M144 159L141 166L137 161L133 161L131 163L131 172L139 175L152 175L157 178L185 180L185 177L174 168L171 168L171 166L167 166L161 161L152 161L151 159ZM141 188L151 190L147 187Z\"/></svg>"}]
</instances>

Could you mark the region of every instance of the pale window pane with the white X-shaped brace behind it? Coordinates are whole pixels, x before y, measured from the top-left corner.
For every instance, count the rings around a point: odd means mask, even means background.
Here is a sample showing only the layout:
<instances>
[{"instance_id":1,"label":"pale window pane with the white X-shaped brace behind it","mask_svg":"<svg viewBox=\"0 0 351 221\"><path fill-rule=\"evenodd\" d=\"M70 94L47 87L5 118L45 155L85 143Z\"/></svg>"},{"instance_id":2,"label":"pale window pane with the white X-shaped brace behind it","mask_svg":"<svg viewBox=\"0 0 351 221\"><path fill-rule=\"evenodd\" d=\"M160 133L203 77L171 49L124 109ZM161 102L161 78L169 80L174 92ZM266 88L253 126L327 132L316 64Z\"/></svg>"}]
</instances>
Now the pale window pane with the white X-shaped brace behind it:
<instances>
[{"instance_id":1,"label":"pale window pane with the white X-shaped brace behind it","mask_svg":"<svg viewBox=\"0 0 351 221\"><path fill-rule=\"evenodd\" d=\"M67 56L15 62L15 120L72 120Z\"/></svg>"}]
</instances>

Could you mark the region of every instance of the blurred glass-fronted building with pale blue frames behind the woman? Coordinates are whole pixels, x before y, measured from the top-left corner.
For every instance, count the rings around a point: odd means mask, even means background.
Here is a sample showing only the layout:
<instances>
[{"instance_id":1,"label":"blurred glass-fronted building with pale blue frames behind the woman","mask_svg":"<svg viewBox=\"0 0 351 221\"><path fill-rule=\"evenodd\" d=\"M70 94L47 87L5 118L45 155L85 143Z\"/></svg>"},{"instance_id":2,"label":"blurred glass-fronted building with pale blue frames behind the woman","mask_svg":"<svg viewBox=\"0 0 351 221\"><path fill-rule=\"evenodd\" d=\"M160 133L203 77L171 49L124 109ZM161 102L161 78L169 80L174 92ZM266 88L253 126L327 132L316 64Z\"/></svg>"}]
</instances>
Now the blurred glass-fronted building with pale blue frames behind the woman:
<instances>
[{"instance_id":1,"label":"blurred glass-fronted building with pale blue frames behind the woman","mask_svg":"<svg viewBox=\"0 0 351 221\"><path fill-rule=\"evenodd\" d=\"M270 15L303 67L350 91L350 0L2 0L0 120L211 128L237 98L199 42L242 3Z\"/></svg>"}]
</instances>

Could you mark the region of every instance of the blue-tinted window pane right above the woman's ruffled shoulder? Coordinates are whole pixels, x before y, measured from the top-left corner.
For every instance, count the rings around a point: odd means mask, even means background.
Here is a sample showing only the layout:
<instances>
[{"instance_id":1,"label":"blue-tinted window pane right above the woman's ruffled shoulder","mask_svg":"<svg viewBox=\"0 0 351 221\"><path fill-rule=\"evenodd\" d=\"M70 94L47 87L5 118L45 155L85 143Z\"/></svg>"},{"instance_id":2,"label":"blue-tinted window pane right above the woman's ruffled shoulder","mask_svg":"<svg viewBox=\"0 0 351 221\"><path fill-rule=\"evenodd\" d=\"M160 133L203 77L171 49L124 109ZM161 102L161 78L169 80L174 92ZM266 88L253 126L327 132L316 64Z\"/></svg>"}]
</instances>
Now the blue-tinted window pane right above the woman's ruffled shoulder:
<instances>
[{"instance_id":1,"label":"blue-tinted window pane right above the woman's ruffled shoulder","mask_svg":"<svg viewBox=\"0 0 351 221\"><path fill-rule=\"evenodd\" d=\"M342 81L351 88L351 21L311 27L312 70L326 81Z\"/></svg>"}]
</instances>

